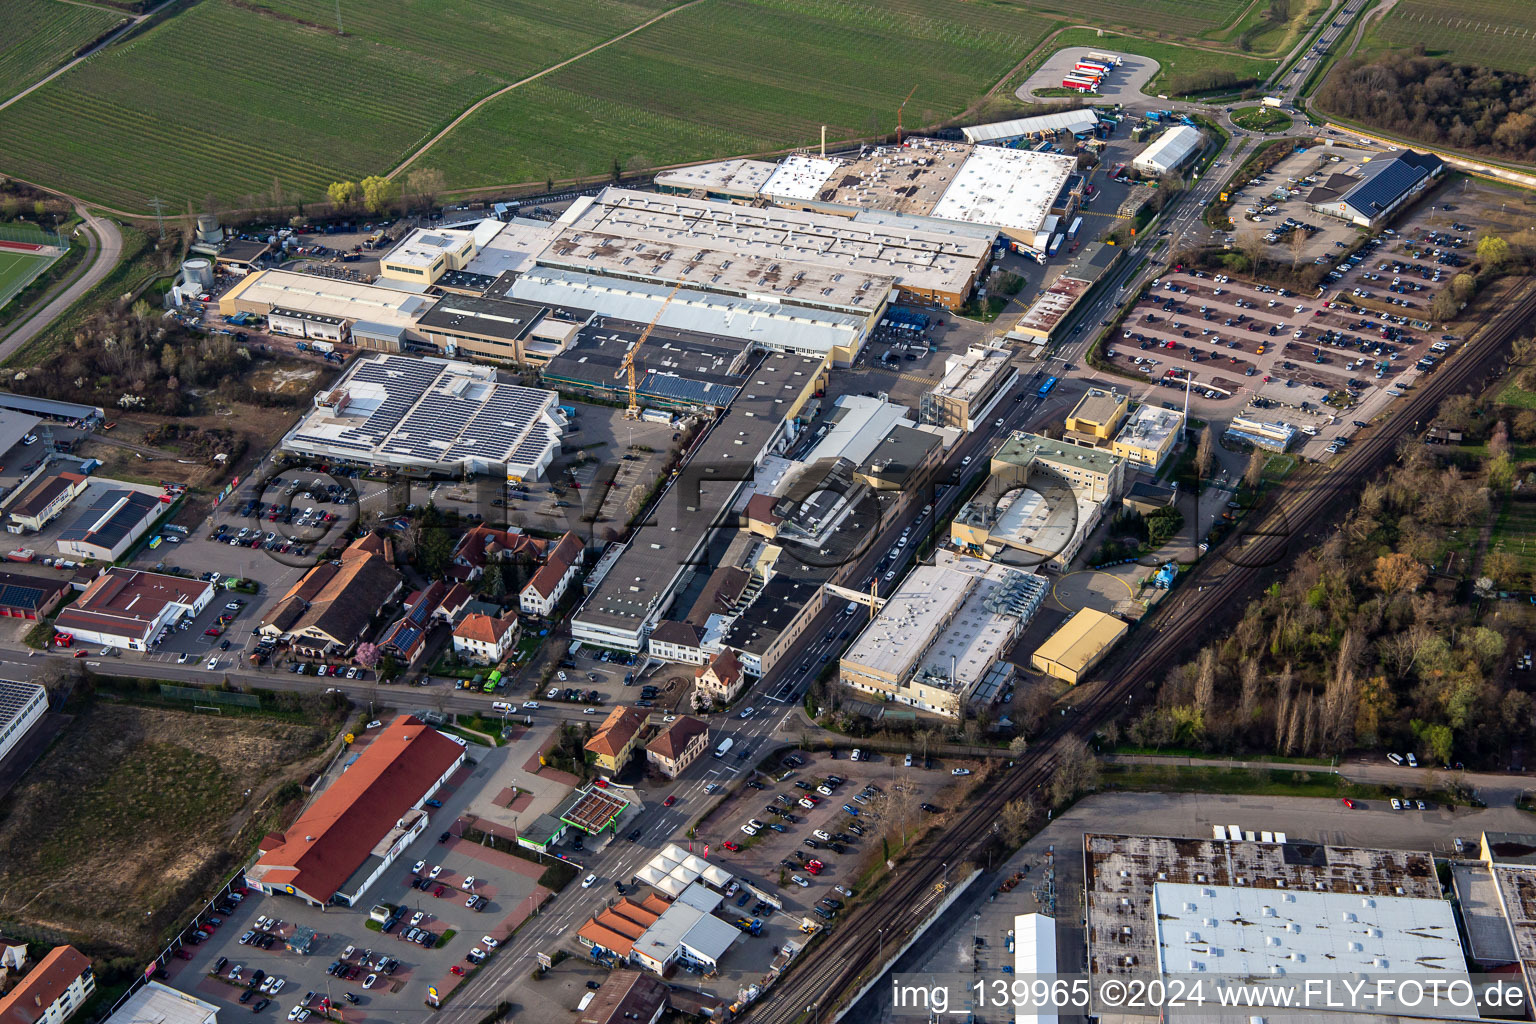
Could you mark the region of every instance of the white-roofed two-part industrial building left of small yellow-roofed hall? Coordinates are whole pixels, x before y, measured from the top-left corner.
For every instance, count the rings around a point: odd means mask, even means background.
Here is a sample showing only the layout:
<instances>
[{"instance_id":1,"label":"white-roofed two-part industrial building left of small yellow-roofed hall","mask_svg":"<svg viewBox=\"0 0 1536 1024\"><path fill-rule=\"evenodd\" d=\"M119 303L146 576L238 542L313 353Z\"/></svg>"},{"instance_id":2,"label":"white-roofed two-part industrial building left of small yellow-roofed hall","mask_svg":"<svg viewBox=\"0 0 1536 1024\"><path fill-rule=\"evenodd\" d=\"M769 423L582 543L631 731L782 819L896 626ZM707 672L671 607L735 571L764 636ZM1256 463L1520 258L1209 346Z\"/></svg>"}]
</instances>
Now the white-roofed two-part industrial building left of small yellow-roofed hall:
<instances>
[{"instance_id":1,"label":"white-roofed two-part industrial building left of small yellow-roofed hall","mask_svg":"<svg viewBox=\"0 0 1536 1024\"><path fill-rule=\"evenodd\" d=\"M940 550L886 597L837 663L845 686L957 718L1014 679L1005 659L1049 583L1034 573Z\"/></svg>"}]
</instances>

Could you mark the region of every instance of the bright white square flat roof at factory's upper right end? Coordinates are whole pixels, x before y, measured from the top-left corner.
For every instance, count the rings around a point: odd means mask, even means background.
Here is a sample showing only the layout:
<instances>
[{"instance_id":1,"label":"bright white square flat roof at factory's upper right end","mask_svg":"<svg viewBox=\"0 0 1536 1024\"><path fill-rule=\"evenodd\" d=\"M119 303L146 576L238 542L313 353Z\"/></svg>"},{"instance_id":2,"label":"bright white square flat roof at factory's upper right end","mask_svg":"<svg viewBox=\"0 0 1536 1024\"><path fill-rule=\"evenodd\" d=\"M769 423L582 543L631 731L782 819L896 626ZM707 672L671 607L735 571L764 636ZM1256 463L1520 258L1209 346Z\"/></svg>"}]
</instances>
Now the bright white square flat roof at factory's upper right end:
<instances>
[{"instance_id":1,"label":"bright white square flat roof at factory's upper right end","mask_svg":"<svg viewBox=\"0 0 1536 1024\"><path fill-rule=\"evenodd\" d=\"M932 216L1038 230L1075 169L1077 158L1063 154L977 146Z\"/></svg>"}]
</instances>

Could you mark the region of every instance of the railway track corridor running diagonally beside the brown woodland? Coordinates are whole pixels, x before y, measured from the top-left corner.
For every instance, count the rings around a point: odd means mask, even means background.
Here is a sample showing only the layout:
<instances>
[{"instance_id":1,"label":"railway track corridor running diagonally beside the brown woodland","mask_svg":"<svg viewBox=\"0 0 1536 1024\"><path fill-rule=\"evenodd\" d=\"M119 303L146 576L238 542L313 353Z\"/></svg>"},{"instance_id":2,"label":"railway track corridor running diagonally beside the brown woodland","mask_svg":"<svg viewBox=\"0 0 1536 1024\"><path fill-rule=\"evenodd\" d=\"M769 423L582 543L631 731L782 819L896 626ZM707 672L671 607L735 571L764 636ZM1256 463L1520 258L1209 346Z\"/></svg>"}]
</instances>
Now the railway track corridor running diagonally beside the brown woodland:
<instances>
[{"instance_id":1,"label":"railway track corridor running diagonally beside the brown woodland","mask_svg":"<svg viewBox=\"0 0 1536 1024\"><path fill-rule=\"evenodd\" d=\"M1207 557L1183 585L1183 597L1166 602L1115 656L1120 669L1112 682L1094 686L1074 714L1037 740L1014 766L994 772L991 785L963 806L943 829L926 835L872 903L857 906L831 935L770 989L746 1012L751 1024L794 1024L816 1015L833 1019L834 1007L869 979L886 946L895 949L926 915L928 897L986 841L1003 806L1044 788L1069 737L1087 740L1127 699L1149 688L1189 648L1204 640L1215 623L1241 611L1250 585L1270 567L1284 565L1307 536L1332 525L1329 511L1372 473L1392 459L1398 439L1415 422L1427 422L1447 396L1487 378L1502 364L1504 348L1536 319L1536 287L1498 316L1484 316L1470 341L1439 373L1410 393L1405 402L1369 436L1350 445L1341 459L1309 465L1286 488L1281 500L1260 510L1247 533ZM816 1007L814 1010L811 1007Z\"/></svg>"}]
</instances>

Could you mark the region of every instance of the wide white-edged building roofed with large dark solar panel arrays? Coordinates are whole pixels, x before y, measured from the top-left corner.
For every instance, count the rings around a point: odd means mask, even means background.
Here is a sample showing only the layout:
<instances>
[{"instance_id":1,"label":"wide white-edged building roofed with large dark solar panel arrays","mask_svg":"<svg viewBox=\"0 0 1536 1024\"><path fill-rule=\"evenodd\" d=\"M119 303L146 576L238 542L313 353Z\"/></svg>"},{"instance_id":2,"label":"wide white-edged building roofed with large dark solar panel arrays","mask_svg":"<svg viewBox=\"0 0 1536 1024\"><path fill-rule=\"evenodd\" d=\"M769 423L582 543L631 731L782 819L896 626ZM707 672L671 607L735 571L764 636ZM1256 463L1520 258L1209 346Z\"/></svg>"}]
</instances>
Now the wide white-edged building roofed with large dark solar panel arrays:
<instances>
[{"instance_id":1,"label":"wide white-edged building roofed with large dark solar panel arrays","mask_svg":"<svg viewBox=\"0 0 1536 1024\"><path fill-rule=\"evenodd\" d=\"M379 353L315 395L281 447L343 465L536 481L561 447L558 402L490 367Z\"/></svg>"}]
</instances>

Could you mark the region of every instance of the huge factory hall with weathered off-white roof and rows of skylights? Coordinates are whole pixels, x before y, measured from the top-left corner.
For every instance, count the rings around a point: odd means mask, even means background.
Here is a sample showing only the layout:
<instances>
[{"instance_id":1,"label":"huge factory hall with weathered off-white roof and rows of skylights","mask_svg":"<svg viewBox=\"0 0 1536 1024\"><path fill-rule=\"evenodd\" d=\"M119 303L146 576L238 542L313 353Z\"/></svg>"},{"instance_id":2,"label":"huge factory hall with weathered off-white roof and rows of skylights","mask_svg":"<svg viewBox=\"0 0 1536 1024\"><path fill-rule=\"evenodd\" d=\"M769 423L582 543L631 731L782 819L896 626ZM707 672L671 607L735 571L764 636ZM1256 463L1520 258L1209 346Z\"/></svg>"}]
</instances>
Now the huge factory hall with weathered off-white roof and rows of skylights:
<instances>
[{"instance_id":1,"label":"huge factory hall with weathered off-white roof and rows of skylights","mask_svg":"<svg viewBox=\"0 0 1536 1024\"><path fill-rule=\"evenodd\" d=\"M892 286L903 301L957 309L989 253L963 235L610 187L562 218L539 264L869 315Z\"/></svg>"}]
</instances>

